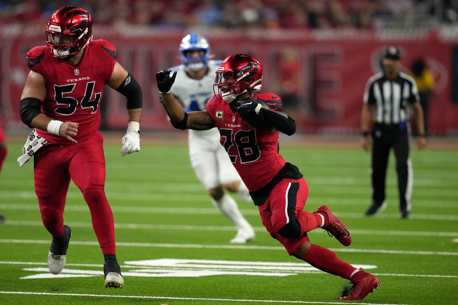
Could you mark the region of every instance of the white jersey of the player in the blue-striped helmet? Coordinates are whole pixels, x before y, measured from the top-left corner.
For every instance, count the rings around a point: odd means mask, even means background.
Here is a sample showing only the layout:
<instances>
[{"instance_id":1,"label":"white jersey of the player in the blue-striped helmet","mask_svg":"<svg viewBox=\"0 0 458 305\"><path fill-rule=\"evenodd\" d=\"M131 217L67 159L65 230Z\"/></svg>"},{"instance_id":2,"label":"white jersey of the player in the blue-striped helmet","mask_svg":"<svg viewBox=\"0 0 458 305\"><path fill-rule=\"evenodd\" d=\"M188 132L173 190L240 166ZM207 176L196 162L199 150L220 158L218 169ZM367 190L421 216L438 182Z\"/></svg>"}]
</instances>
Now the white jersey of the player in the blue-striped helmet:
<instances>
[{"instance_id":1,"label":"white jersey of the player in the blue-striped helmet","mask_svg":"<svg viewBox=\"0 0 458 305\"><path fill-rule=\"evenodd\" d=\"M207 100L213 95L213 84L215 82L215 71L218 70L221 65L221 61L209 60L208 61L208 73L200 80L195 80L186 74L185 65L180 64L170 68L172 72L170 75L177 71L175 82L172 86L172 93L175 97L178 97L183 103L183 107L186 111L204 111ZM210 130L192 130L189 129L190 135L207 137L213 136L218 138L218 128L212 128ZM216 136L217 135L217 136Z\"/></svg>"}]
</instances>

